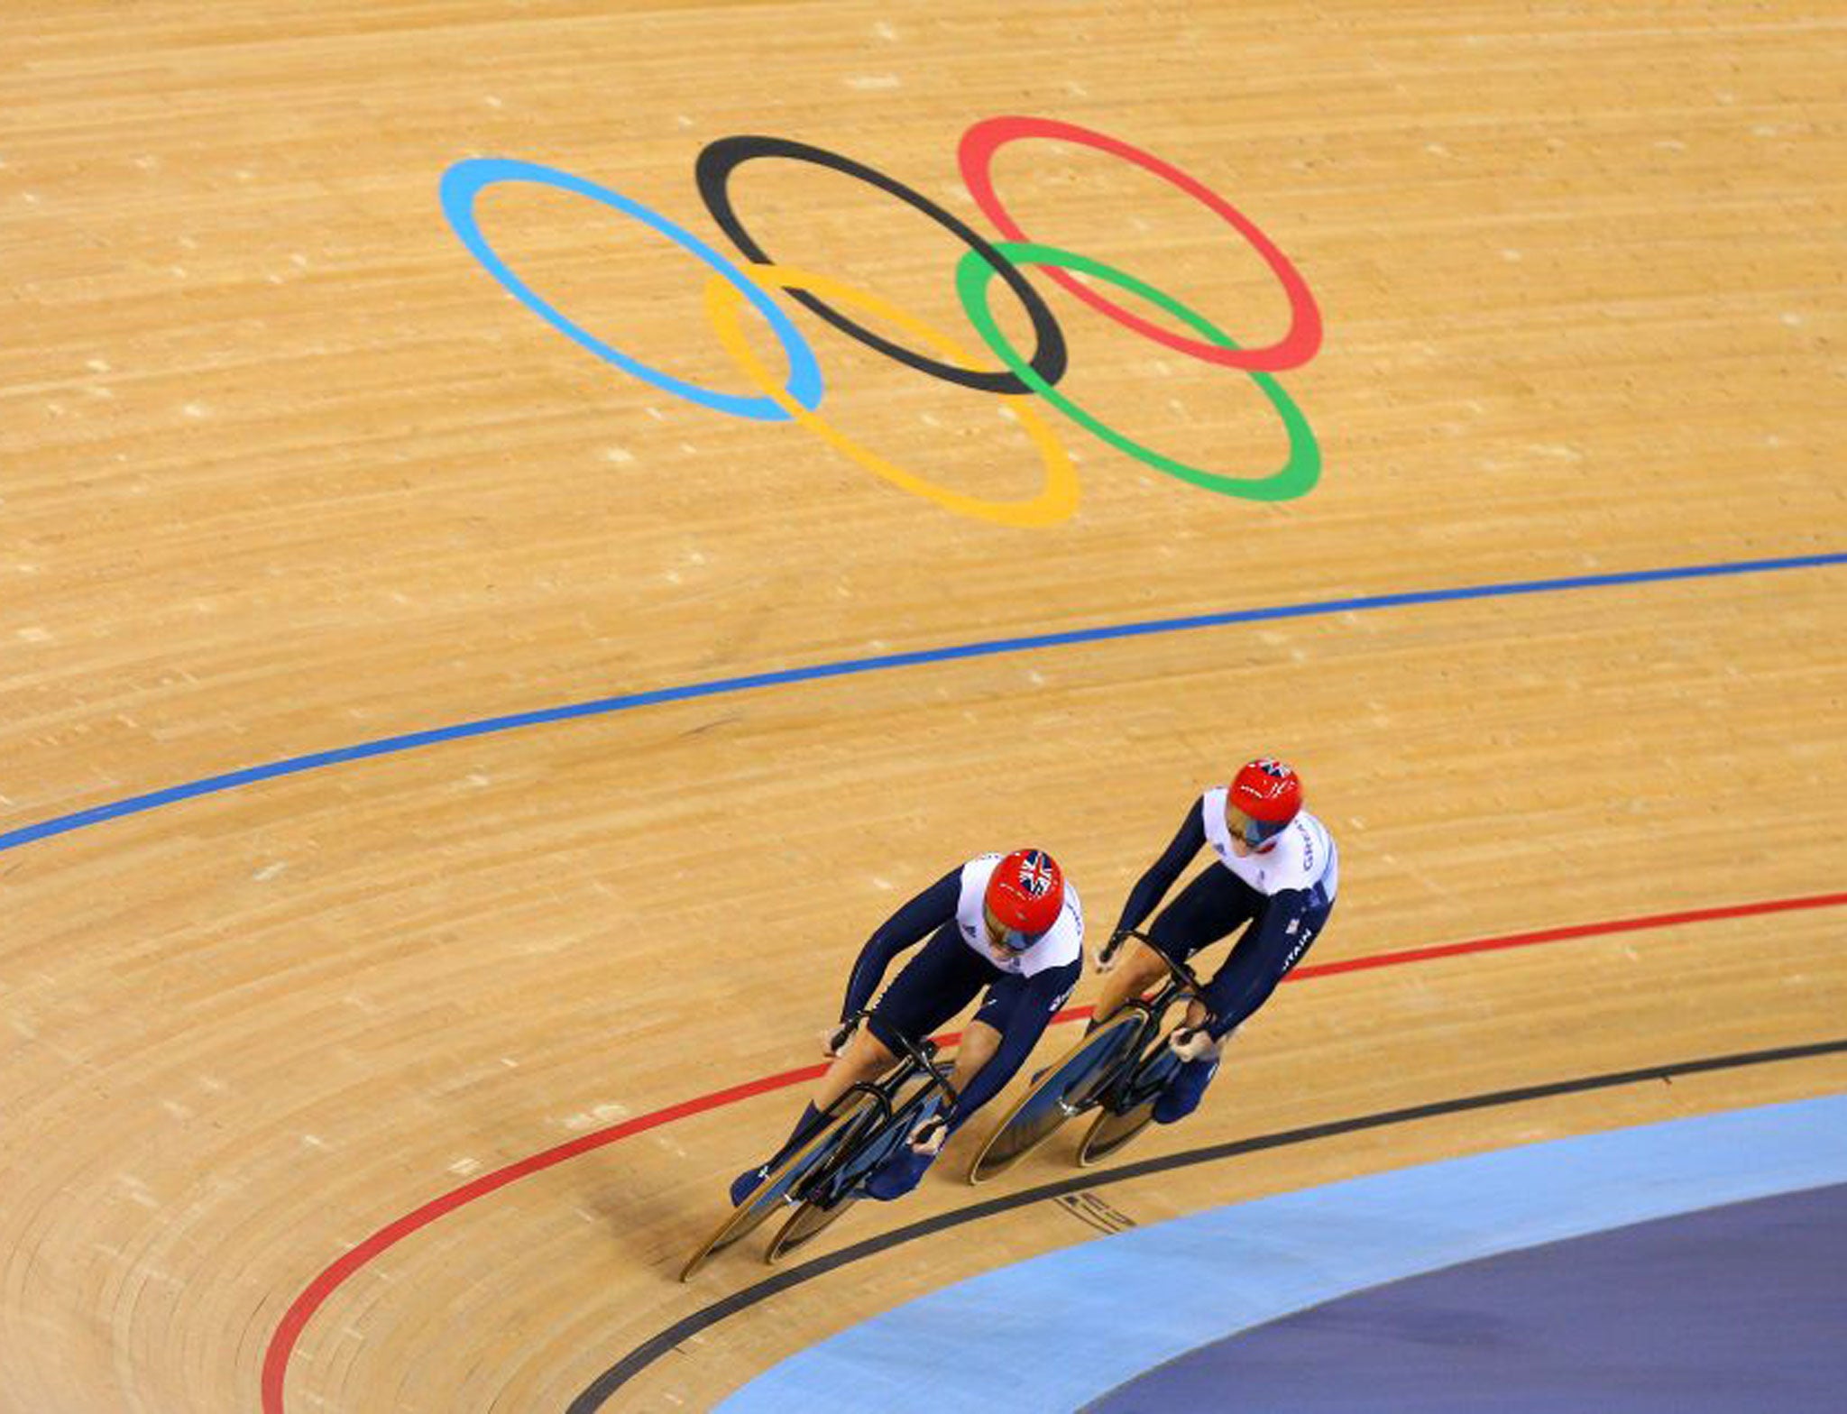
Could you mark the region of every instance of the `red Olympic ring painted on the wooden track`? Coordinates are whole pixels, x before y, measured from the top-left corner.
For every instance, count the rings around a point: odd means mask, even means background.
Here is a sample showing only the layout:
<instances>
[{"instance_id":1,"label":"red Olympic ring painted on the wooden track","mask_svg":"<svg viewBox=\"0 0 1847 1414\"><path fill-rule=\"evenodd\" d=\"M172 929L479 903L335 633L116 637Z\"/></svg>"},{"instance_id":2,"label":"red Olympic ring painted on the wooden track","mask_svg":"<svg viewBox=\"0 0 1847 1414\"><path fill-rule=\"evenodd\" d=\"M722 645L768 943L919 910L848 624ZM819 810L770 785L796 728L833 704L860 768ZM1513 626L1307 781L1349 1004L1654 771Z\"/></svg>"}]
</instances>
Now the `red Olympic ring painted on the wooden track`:
<instances>
[{"instance_id":1,"label":"red Olympic ring painted on the wooden track","mask_svg":"<svg viewBox=\"0 0 1847 1414\"><path fill-rule=\"evenodd\" d=\"M1077 281L1068 270L1045 271L1053 281L1062 284L1093 310L1116 319L1119 325L1134 329L1143 338L1151 338L1169 349L1201 358L1208 364L1219 364L1223 367L1278 373L1282 369L1306 364L1321 349L1321 310L1315 305L1315 295L1308 290L1308 281L1304 281L1300 271L1289 264L1289 257L1276 249L1269 236L1258 231L1232 207L1230 201L1213 192L1210 186L1171 162L1164 162L1160 157L1141 151L1141 148L1134 148L1121 138L1110 137L1108 133L1097 133L1090 127L1058 122L1056 118L1016 116L983 118L979 124L962 133L962 142L957 148L957 161L962 166L962 183L968 186L970 196L975 198L975 205L979 205L986 218L1005 231L1010 240L1032 240L1032 236L1020 227L1020 222L1007 212L1007 207L1003 207L1001 199L994 194L994 153L1005 144L1027 137L1058 138L1084 148L1095 148L1097 151L1106 151L1112 157L1121 157L1125 162L1132 162L1143 172L1153 172L1162 181L1178 186L1195 201L1223 216L1245 240L1250 242L1256 253L1262 255L1263 262L1271 268L1271 273L1276 275L1278 282L1282 282L1284 292L1289 295L1289 332L1276 343L1263 349L1226 349L1217 343L1206 343L1202 340L1186 338L1162 329L1160 325L1143 319L1140 314L1132 314L1121 305L1103 297L1088 284Z\"/></svg>"}]
</instances>

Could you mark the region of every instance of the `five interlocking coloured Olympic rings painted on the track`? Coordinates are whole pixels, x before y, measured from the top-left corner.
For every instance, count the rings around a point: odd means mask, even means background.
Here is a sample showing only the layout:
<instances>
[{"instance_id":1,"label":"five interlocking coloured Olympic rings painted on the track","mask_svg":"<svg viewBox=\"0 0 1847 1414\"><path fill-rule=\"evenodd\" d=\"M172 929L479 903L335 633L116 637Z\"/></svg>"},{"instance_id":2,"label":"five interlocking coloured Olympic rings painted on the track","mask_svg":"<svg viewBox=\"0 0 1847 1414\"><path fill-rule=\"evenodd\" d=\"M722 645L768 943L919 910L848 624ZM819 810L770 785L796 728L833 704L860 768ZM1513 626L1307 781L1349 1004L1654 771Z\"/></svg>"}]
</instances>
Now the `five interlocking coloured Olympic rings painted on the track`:
<instances>
[{"instance_id":1,"label":"five interlocking coloured Olympic rings painted on the track","mask_svg":"<svg viewBox=\"0 0 1847 1414\"><path fill-rule=\"evenodd\" d=\"M1186 192L1202 207L1225 220L1258 251L1263 262L1276 275L1276 281L1282 284L1284 294L1289 299L1289 330L1276 343L1263 349L1243 349L1232 340L1230 334L1212 323L1206 316L1188 305L1182 305L1178 299L1154 288L1147 281L1116 270L1114 266L1106 266L1086 255L1075 255L1071 251L1031 240L1001 205L1001 199L994 190L992 166L994 155L999 148L1008 142L1034 137L1056 138L1119 157L1125 162L1151 172L1180 192ZM811 162L863 181L870 186L877 186L920 214L929 216L966 244L968 253L957 262L955 268L957 295L960 297L962 308L968 312L975 332L981 334L988 351L997 356L1001 364L1005 364L1005 369L983 367L949 334L875 294L842 284L827 275L776 262L750 234L750 231L744 229L730 196L731 174L744 162L759 159ZM1165 162L1140 148L1132 148L1121 138L1053 118L1005 116L977 122L968 129L968 133L962 135L957 159L970 196L975 198L975 205L981 207L983 214L994 222L1005 236L1003 240L986 240L953 212L946 210L914 188L905 186L896 177L877 172L863 162L855 162L850 157L842 157L840 153L776 137L718 138L698 155L696 179L700 198L704 199L707 212L711 212L711 218L718 223L718 229L724 231L730 242L742 253L746 260L742 266L720 255L691 231L685 231L659 212L643 207L639 201L569 172L539 166L537 162L521 162L506 157L473 157L456 162L443 174L441 201L449 225L454 229L456 236L462 238L462 244L469 249L469 253L480 260L488 273L491 273L515 299L526 305L526 308L563 332L567 338L589 349L598 358L615 364L654 388L702 408L711 408L713 412L765 423L800 423L859 465L877 476L883 476L887 482L912 495L933 500L959 515L972 515L1008 526L1044 526L1069 517L1077 508L1077 471L1071 465L1071 458L1064 445L1038 413L1038 408L1032 402L1034 397L1049 402L1064 413L1064 417L1127 456L1132 456L1134 460L1167 476L1204 487L1206 491L1239 497L1245 500L1289 500L1313 487L1317 476L1321 474L1321 447L1315 441L1315 434L1310 428L1308 419L1295 406L1282 386L1269 375L1298 367L1315 356L1321 347L1321 310L1315 306L1315 297L1310 294L1308 282L1297 268L1262 231L1258 231L1250 220L1239 214L1223 196L1171 162ZM541 299L493 251L475 220L475 201L480 192L501 183L534 183L539 186L552 186L563 192L587 196L593 201L632 216L704 262L709 268L704 292L706 318L711 321L713 332L726 353L733 358L739 371L752 384L752 388L757 389L755 395L746 397L739 393L724 393L674 378L672 375L650 367L637 358L624 354L621 349L604 343L587 329L574 323L571 318ZM1064 332L1053 318L1051 308L1021 273L1023 266L1044 270L1053 282L1071 292L1077 299L1084 301L1105 318L1136 330L1154 343L1217 367L1239 369L1247 373L1282 417L1284 428L1289 434L1289 456L1284 465L1267 476L1230 476L1193 467L1130 439L1127 434L1105 425L1093 413L1086 412L1058 391L1056 384L1066 371ZM994 318L994 310L990 306L990 286L996 275L1001 277L1021 306L1025 306L1032 323L1036 347L1031 356L1021 356L1020 351L1008 343ZM1110 286L1112 290L1125 292L1143 305L1151 305L1173 319L1178 319L1189 332L1178 334L1169 327L1154 323L1145 316L1116 303L1092 284L1075 279L1075 275L1088 275L1092 281ZM1005 399L1008 412L1032 439L1032 445L1038 449L1040 460L1044 461L1045 484L1038 495L1027 500L984 500L962 495L960 491L936 485L935 482L892 463L826 421L818 413L824 382L820 364L815 358L815 349L794 327L794 323L791 323L789 316L778 308L776 301L770 297L770 290L787 290L792 299L813 310L818 318L826 319L840 332L872 349L877 349L899 364L914 367L920 373L927 373L933 378L940 378L960 388L994 393ZM765 321L768 321L770 330L776 334L776 340L781 343L783 354L789 360L789 371L781 382L778 382L772 369L767 367L765 362L750 349L744 338L742 306L746 301L757 310L757 314L763 316ZM861 318L879 319L883 325L901 330L907 338L914 340L916 345L924 345L927 353L885 338L883 334L859 323L855 318L844 314L842 308L853 310L853 314Z\"/></svg>"}]
</instances>

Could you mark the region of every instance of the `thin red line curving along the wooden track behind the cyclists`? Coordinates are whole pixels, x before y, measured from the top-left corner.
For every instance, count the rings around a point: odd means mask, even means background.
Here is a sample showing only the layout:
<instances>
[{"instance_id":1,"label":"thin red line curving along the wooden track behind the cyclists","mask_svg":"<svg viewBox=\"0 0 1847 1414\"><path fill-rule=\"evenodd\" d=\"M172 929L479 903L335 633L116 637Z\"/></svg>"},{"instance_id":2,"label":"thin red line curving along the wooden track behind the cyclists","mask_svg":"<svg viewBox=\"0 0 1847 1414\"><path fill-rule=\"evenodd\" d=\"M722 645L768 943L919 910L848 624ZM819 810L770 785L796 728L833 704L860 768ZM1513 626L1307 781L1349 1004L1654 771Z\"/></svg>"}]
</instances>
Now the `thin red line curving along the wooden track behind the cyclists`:
<instances>
[{"instance_id":1,"label":"thin red line curving along the wooden track behind the cyclists","mask_svg":"<svg viewBox=\"0 0 1847 1414\"><path fill-rule=\"evenodd\" d=\"M1539 943L1561 943L1574 938L1601 938L1614 932L1670 929L1683 923L1714 923L1729 917L1758 917L1762 914L1786 914L1799 908L1836 908L1843 903L1847 903L1847 893L1816 893L1805 899L1769 899L1764 903L1729 905L1725 908L1696 908L1681 914L1624 917L1607 923L1575 923L1563 929L1509 932L1500 938L1476 938L1467 943L1441 943L1435 947L1413 947L1400 953L1374 953L1365 958L1324 962L1311 967L1297 967L1284 980L1298 982L1311 977L1334 977L1335 973L1358 973L1372 967L1398 967L1411 962L1454 958L1465 953L1494 953L1509 947L1537 947ZM1055 1015L1053 1021L1077 1021L1088 1015L1088 1006L1073 1006ZM955 1045L955 1041L960 1039L960 1032L949 1032L936 1039L942 1045ZM663 1124L672 1124L674 1120L689 1119L691 1115L700 1115L707 1109L720 1109L728 1104L748 1100L754 1095L765 1095L787 1085L800 1085L805 1080L818 1080L826 1069L826 1065L805 1065L798 1071L783 1071L779 1074L761 1076L759 1080L746 1080L742 1085L731 1085L730 1089L713 1091L711 1095L682 1100L680 1104L669 1106L667 1109L656 1109L648 1115L624 1119L621 1124L613 1124L608 1130L580 1135L569 1143L556 1144L554 1148L547 1148L539 1154L519 1159L517 1163L510 1163L504 1168L495 1168L491 1174L482 1174L473 1183L464 1183L460 1189L445 1192L440 1198L432 1198L423 1207L386 1224L314 1277L314 1281L303 1288L301 1296L297 1296L283 1314L281 1324L275 1327L275 1335L270 1336L270 1348L262 1357L262 1414L283 1414L283 1377L288 1373L288 1360L296 1351L296 1342L314 1318L314 1312L321 1309L327 1298L332 1296L347 1277L351 1277L380 1252L386 1252L438 1218L454 1213L458 1207L465 1207L477 1198L486 1198L489 1192L504 1189L508 1183L515 1183L521 1178L552 1168L565 1159L574 1159L580 1154L589 1154L604 1144L613 1144L619 1139L628 1139L630 1135L645 1133L646 1130L658 1130Z\"/></svg>"}]
</instances>

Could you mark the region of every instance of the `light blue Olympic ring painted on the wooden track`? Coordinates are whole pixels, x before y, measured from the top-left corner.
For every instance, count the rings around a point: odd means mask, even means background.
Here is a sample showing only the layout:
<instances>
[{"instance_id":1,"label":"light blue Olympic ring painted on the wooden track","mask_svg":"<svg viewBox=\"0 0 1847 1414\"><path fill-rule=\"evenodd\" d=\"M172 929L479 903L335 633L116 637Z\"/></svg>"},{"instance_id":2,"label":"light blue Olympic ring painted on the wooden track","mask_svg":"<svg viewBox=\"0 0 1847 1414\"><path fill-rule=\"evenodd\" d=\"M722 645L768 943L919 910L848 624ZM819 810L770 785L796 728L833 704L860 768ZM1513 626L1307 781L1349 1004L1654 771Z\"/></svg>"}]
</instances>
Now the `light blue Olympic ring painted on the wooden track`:
<instances>
[{"instance_id":1,"label":"light blue Olympic ring painted on the wooden track","mask_svg":"<svg viewBox=\"0 0 1847 1414\"><path fill-rule=\"evenodd\" d=\"M654 384L669 393L687 399L689 402L698 402L700 406L713 408L715 412L724 412L733 417L754 417L761 423L787 423L789 413L779 408L772 399L763 397L739 397L737 393L717 393L709 388L700 388L698 384L674 378L670 373L661 373L656 367L630 358L621 349L604 343L600 338L591 334L578 323L573 323L556 308L547 305L537 294L526 286L506 262L495 255L493 247L480 234L480 225L475 222L475 198L486 186L495 186L502 181L530 181L539 186L558 186L565 192L576 192L578 196L587 196L591 201L600 201L606 207L615 207L617 210L628 212L643 225L659 231L670 242L682 249L691 251L707 266L717 270L726 281L735 284L742 295L757 306L757 312L770 321L770 329L776 330L776 338L783 345L783 353L789 358L789 397L800 402L807 410L820 406L822 397L822 377L820 364L815 358L815 349L802 330L791 323L789 316L783 314L776 303L759 288L742 270L726 260L718 251L707 246L704 240L694 236L691 231L669 222L659 212L648 210L639 201L632 201L621 192L611 192L608 186L598 186L593 181L585 181L571 172L560 172L558 168L539 166L537 162L521 162L510 157L469 157L467 161L456 162L443 174L441 194L443 194L443 214L449 218L449 225L454 227L456 236L473 253L477 260L493 275L508 294L513 295L521 305L537 314L545 323L552 325L560 334L582 343L598 358L604 358L617 367L632 373L643 382Z\"/></svg>"}]
</instances>

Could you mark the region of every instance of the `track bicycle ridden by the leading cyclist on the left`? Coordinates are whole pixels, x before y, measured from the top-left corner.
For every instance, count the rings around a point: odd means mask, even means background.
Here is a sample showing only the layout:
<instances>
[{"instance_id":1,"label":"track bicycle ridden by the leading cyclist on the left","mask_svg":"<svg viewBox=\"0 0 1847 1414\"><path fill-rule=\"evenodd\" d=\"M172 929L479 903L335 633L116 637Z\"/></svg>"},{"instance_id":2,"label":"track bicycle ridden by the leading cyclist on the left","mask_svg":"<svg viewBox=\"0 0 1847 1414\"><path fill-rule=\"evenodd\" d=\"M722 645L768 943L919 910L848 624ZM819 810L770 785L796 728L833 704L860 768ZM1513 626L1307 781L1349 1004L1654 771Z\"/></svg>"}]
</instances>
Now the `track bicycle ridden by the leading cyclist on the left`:
<instances>
[{"instance_id":1,"label":"track bicycle ridden by the leading cyclist on the left","mask_svg":"<svg viewBox=\"0 0 1847 1414\"><path fill-rule=\"evenodd\" d=\"M864 1025L870 1012L853 1019ZM789 1218L770 1239L776 1263L833 1224L863 1194L861 1185L938 1106L955 1100L949 1072L936 1063L935 1041L899 1036L901 1056L879 1080L861 1080L829 1106L822 1124L750 1191L680 1268L691 1281L713 1255L750 1235L776 1213Z\"/></svg>"}]
</instances>

